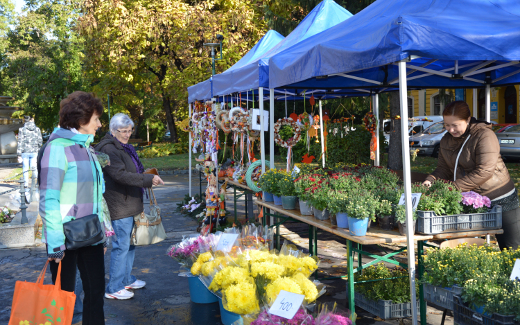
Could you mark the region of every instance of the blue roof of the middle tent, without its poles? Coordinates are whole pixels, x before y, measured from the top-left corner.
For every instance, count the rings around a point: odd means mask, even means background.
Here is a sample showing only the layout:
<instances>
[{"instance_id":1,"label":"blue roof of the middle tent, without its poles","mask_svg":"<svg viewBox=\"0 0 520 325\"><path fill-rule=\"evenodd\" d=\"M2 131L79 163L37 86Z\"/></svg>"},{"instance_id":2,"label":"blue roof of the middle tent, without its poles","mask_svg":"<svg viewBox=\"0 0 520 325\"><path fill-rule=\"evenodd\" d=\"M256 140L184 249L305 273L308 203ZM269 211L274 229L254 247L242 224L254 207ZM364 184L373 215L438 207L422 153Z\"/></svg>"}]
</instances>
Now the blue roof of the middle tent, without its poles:
<instances>
[{"instance_id":1,"label":"blue roof of the middle tent, without its poles","mask_svg":"<svg viewBox=\"0 0 520 325\"><path fill-rule=\"evenodd\" d=\"M268 87L269 70L268 59L289 49L291 46L302 42L302 40L318 34L327 28L331 28L352 17L352 14L339 6L333 0L324 0L318 4L309 15L307 15L300 24L277 45L272 47L263 55L243 67L232 71L232 79L220 80L220 77L214 77L214 95L221 96L232 94L237 91L245 91L249 89L257 89L258 87Z\"/></svg>"}]
</instances>

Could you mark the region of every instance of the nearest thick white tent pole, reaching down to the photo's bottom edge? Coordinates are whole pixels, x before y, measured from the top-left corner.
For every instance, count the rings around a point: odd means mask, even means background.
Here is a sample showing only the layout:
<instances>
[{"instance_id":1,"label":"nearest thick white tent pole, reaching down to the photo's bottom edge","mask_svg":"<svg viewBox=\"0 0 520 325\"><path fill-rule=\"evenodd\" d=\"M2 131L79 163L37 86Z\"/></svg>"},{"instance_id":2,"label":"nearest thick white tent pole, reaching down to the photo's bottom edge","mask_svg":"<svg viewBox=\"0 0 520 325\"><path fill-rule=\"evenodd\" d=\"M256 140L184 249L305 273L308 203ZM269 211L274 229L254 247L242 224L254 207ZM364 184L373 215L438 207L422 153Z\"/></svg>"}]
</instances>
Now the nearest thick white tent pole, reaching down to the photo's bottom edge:
<instances>
[{"instance_id":1,"label":"nearest thick white tent pole, reaching down to the photo's bottom edge","mask_svg":"<svg viewBox=\"0 0 520 325\"><path fill-rule=\"evenodd\" d=\"M401 131L408 130L408 89L406 86L406 62L399 62L399 103L401 106ZM412 183L410 176L410 137L408 132L401 132L403 143L403 180L406 206L406 245L408 253L408 272L410 274L410 294L412 321L417 325L417 295L415 292L415 246L413 240ZM422 314L421 314L422 315ZM426 317L426 315L424 315ZM426 323L424 323L426 324Z\"/></svg>"}]
</instances>

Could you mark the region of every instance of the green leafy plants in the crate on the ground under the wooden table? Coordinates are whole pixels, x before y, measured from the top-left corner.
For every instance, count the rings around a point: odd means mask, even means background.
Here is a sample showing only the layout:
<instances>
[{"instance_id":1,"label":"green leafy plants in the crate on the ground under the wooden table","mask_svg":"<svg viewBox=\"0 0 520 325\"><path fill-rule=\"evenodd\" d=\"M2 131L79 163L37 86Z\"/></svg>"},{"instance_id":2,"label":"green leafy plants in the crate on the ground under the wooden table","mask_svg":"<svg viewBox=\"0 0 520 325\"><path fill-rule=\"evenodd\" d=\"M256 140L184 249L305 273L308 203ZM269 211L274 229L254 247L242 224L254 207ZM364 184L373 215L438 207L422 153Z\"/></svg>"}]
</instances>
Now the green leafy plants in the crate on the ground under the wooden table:
<instances>
[{"instance_id":1,"label":"green leafy plants in the crate on the ground under the wooden table","mask_svg":"<svg viewBox=\"0 0 520 325\"><path fill-rule=\"evenodd\" d=\"M367 267L363 272L354 274L356 282L388 278L397 279L358 283L356 291L374 301L392 300L396 304L410 302L410 281L407 270L401 268L390 270L383 263L378 263ZM419 283L415 283L415 290L419 292Z\"/></svg>"}]
</instances>

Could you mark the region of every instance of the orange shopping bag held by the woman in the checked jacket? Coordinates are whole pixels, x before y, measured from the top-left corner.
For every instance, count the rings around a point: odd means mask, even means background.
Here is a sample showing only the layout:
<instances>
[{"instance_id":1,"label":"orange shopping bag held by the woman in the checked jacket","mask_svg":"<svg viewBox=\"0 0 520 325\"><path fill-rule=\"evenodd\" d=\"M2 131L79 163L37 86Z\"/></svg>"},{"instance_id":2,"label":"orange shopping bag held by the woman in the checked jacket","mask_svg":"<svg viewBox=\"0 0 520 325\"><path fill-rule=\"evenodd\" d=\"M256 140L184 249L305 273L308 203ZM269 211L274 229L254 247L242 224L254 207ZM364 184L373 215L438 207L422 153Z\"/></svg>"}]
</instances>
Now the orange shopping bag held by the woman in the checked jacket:
<instances>
[{"instance_id":1,"label":"orange shopping bag held by the woman in the checked jacket","mask_svg":"<svg viewBox=\"0 0 520 325\"><path fill-rule=\"evenodd\" d=\"M62 263L59 264L55 285L44 284L49 261L45 263L36 283L16 281L9 325L72 324L76 295L61 290Z\"/></svg>"}]
</instances>

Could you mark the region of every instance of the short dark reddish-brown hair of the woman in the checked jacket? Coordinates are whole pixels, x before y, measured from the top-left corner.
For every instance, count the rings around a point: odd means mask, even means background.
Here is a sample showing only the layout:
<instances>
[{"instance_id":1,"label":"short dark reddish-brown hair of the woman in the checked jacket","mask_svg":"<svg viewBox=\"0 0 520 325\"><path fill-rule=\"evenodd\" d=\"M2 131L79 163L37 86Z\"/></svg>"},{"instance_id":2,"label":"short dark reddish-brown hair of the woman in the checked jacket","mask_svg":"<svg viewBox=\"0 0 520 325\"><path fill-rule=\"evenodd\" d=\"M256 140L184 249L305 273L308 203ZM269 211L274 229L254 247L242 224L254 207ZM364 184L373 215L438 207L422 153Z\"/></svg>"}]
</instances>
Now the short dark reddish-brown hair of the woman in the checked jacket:
<instances>
[{"instance_id":1,"label":"short dark reddish-brown hair of the woman in the checked jacket","mask_svg":"<svg viewBox=\"0 0 520 325\"><path fill-rule=\"evenodd\" d=\"M78 130L88 124L92 115L103 114L103 104L93 93L74 91L60 102L60 128Z\"/></svg>"}]
</instances>

